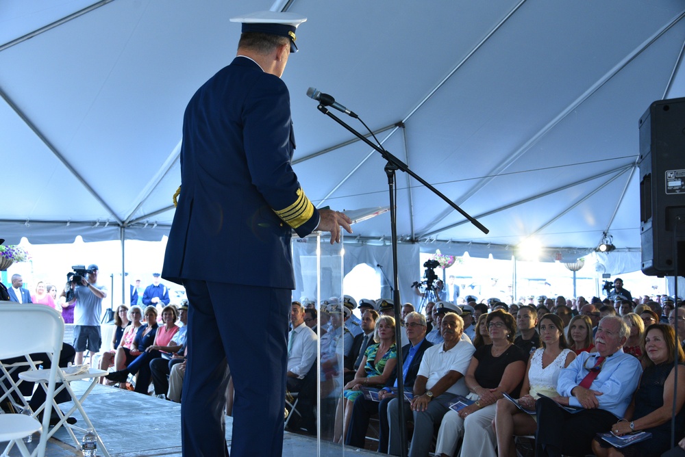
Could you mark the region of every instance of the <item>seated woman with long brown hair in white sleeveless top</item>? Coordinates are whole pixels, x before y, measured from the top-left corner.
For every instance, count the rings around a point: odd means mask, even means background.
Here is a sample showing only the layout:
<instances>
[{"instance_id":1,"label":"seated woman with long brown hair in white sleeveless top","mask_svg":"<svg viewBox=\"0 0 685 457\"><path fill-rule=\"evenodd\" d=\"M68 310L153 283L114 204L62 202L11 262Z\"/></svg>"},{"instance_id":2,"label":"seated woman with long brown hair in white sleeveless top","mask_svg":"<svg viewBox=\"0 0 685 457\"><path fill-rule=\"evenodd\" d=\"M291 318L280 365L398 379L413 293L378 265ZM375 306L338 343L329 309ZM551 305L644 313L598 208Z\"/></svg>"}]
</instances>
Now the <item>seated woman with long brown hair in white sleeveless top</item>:
<instances>
[{"instance_id":1,"label":"seated woman with long brown hair in white sleeveless top","mask_svg":"<svg viewBox=\"0 0 685 457\"><path fill-rule=\"evenodd\" d=\"M545 314L538 323L538 333L543 347L533 352L528 360L519 398L519 404L527 410L535 410L535 401L540 393L547 397L559 395L556 391L559 372L575 358L575 352L569 349L564 337L564 324L558 316ZM534 415L523 413L506 398L497 400L493 424L499 457L515 457L514 435L534 434L538 426Z\"/></svg>"}]
</instances>

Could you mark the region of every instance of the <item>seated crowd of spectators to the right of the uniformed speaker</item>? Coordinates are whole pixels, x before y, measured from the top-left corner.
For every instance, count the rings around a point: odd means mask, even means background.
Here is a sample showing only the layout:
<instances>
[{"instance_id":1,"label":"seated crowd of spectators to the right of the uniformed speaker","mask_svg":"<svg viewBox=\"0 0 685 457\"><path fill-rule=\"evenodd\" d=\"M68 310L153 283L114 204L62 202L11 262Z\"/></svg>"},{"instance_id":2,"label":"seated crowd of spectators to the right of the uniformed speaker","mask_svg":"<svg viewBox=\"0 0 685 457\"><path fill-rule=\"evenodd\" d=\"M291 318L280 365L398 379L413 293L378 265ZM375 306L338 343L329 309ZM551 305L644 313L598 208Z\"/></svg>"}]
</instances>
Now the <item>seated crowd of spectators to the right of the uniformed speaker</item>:
<instances>
[{"instance_id":1,"label":"seated crowd of spectators to the right of the uniformed speaker","mask_svg":"<svg viewBox=\"0 0 685 457\"><path fill-rule=\"evenodd\" d=\"M516 436L535 436L540 456L661 455L670 447L671 417L676 417L676 441L685 436L685 382L673 393L674 361L680 361L678 376L685 379L680 375L685 309L680 299L632 298L622 281L615 285L615 293L604 299L539 297L506 304L469 297L428 302L419 310L423 313L401 306L393 334L407 337L403 358L395 363L406 389L403 402L396 371L382 376L373 365L359 363L377 354L364 337L378 326L378 314L395 318L392 300L360 300L366 306L356 337L349 330L356 314L353 299L338 304L332 298L319 306L309 300L305 315L310 327L321 326L322 360L327 361L318 386L324 436L369 447L365 436L375 434L378 452L400 455L404 447L414 457L516 456ZM383 346L386 352L389 347ZM456 348L461 357L453 355ZM347 372L344 382L336 381L339 370ZM458 409L463 398L467 406ZM327 410L326 402L334 406ZM399 423L400 404L404 424ZM374 430L371 417L379 420ZM288 428L311 432L299 421ZM639 431L652 436L622 449L597 437Z\"/></svg>"}]
</instances>

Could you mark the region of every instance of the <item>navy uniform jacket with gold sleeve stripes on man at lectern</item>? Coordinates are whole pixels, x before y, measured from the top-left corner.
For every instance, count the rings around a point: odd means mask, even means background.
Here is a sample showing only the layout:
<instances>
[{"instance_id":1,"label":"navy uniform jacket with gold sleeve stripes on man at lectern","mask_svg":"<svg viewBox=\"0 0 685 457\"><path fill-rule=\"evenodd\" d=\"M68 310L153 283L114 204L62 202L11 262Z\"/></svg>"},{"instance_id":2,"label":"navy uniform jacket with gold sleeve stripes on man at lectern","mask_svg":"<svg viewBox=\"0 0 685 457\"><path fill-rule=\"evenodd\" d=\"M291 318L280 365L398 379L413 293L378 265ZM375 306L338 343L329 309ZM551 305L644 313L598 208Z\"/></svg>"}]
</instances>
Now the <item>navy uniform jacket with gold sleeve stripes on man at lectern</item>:
<instances>
[{"instance_id":1,"label":"navy uniform jacket with gold sleeve stripes on man at lectern","mask_svg":"<svg viewBox=\"0 0 685 457\"><path fill-rule=\"evenodd\" d=\"M162 277L295 288L290 231L319 212L290 166L295 137L285 83L236 57L184 114L181 193Z\"/></svg>"}]
</instances>

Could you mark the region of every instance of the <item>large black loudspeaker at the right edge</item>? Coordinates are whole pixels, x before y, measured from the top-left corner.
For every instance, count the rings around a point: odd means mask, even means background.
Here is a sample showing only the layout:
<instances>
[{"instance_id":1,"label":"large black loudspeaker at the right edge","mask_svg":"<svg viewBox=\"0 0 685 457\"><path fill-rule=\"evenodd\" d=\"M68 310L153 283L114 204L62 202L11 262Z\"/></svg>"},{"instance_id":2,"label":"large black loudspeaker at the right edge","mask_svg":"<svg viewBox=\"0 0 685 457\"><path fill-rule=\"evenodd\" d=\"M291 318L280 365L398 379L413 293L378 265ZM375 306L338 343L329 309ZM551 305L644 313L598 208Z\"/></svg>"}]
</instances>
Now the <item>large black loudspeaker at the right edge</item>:
<instances>
[{"instance_id":1,"label":"large black loudspeaker at the right edge","mask_svg":"<svg viewBox=\"0 0 685 457\"><path fill-rule=\"evenodd\" d=\"M685 276L685 98L640 118L639 166L642 271Z\"/></svg>"}]
</instances>

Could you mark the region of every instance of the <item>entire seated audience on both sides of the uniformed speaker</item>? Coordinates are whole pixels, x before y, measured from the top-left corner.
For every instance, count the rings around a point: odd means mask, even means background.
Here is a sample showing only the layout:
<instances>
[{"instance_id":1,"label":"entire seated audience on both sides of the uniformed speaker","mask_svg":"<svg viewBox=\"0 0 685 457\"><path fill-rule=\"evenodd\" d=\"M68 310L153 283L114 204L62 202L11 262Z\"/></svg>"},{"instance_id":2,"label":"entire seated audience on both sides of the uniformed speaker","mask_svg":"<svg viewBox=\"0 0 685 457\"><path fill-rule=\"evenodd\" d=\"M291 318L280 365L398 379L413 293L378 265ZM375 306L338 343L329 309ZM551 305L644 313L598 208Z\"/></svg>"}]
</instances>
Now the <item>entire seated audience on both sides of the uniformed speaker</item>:
<instances>
[{"instance_id":1,"label":"entire seated audience on both sides of the uniformed speaker","mask_svg":"<svg viewBox=\"0 0 685 457\"><path fill-rule=\"evenodd\" d=\"M98 363L111 371L105 383L182 402L188 303L169 304L157 279L140 294L147 306L116 308ZM12 285L16 301L63 306L55 287L38 283L29 297L21 277ZM538 456L660 456L673 417L676 441L685 436L682 305L633 298L619 278L604 299L468 296L403 304L399 316L386 298L301 298L290 309L287 387L298 403L286 407L288 429L313 434L321 421L327 439L364 447L377 417L378 452L413 457L516 456L515 436L535 436ZM651 438L621 449L598 436L639 431Z\"/></svg>"}]
</instances>

